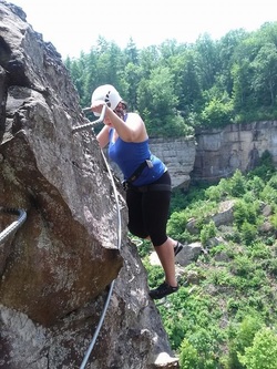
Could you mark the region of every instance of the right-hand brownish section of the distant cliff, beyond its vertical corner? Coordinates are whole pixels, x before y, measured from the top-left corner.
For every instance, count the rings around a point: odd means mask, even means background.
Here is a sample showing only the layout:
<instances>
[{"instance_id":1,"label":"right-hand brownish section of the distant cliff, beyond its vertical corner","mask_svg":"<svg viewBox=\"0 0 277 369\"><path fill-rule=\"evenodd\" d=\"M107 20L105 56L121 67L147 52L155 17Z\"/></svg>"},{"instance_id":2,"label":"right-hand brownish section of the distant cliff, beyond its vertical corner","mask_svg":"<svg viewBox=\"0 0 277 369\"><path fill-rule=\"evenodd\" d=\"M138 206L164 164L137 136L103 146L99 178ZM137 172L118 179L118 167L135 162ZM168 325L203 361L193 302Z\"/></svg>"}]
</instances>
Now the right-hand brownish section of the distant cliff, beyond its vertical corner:
<instances>
[{"instance_id":1,"label":"right-hand brownish section of the distant cliff, beyond its vertical corner","mask_svg":"<svg viewBox=\"0 0 277 369\"><path fill-rule=\"evenodd\" d=\"M265 151L277 165L277 121L230 124L222 130L196 133L193 180L217 182L236 170L247 172Z\"/></svg>"}]
</instances>

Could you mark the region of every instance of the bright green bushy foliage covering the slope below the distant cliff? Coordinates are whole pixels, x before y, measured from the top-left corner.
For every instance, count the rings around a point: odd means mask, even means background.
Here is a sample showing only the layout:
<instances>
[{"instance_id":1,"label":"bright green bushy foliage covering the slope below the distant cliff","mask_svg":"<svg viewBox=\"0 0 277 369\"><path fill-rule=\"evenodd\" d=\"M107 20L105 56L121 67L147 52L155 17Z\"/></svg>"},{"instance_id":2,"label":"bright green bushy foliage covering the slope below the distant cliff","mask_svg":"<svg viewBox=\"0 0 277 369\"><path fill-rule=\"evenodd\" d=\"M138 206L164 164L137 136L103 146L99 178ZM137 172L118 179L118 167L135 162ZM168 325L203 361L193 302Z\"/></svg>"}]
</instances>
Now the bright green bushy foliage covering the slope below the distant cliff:
<instances>
[{"instance_id":1,"label":"bright green bushy foliage covering the slope below the distant cliff","mask_svg":"<svg viewBox=\"0 0 277 369\"><path fill-rule=\"evenodd\" d=\"M257 168L247 175L236 172L217 185L178 191L174 195L177 206L170 216L170 236L186 243L198 240L204 246L214 236L222 238L220 244L209 248L208 255L199 256L182 269L178 293L157 306L181 368L275 368L271 365L276 353L275 350L269 353L269 346L276 347L276 332L267 331L277 324L273 204L277 181L276 172L264 178L257 175L270 173L270 160L265 160L261 166L260 172ZM220 202L228 199L234 201L233 224L217 227L213 214ZM271 212L265 218L263 208L269 202ZM187 225L192 219L191 229ZM259 228L266 221L273 224L269 234ZM160 284L162 267L152 266L147 256L143 263L150 286ZM263 355L268 356L264 367Z\"/></svg>"}]
</instances>

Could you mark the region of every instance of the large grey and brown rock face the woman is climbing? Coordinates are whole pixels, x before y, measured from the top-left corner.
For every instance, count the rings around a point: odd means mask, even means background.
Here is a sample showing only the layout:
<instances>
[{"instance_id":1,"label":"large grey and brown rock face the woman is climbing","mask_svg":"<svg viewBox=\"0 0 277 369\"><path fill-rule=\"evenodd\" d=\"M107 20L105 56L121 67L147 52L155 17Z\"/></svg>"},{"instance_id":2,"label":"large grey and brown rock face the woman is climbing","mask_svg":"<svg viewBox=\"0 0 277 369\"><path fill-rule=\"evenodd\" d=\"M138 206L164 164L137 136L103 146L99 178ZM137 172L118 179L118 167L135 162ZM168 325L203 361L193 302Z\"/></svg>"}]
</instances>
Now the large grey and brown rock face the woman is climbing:
<instances>
[{"instance_id":1,"label":"large grey and brown rock face the woman is climbing","mask_svg":"<svg viewBox=\"0 0 277 369\"><path fill-rule=\"evenodd\" d=\"M0 207L27 212L0 245L0 367L79 368L113 286L86 368L176 368L61 55L2 0L0 30Z\"/></svg>"}]
</instances>

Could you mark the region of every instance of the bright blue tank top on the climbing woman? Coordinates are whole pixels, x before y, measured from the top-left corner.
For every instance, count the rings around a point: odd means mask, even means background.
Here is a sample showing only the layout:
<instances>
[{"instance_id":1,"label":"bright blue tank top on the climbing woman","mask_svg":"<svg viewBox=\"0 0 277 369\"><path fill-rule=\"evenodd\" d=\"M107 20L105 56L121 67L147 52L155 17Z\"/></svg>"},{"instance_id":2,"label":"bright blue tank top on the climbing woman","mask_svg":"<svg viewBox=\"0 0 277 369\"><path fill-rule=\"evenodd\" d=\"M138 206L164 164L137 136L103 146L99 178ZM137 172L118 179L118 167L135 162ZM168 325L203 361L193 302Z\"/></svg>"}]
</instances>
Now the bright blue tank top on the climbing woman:
<instances>
[{"instance_id":1,"label":"bright blue tank top on the climbing woman","mask_svg":"<svg viewBox=\"0 0 277 369\"><path fill-rule=\"evenodd\" d=\"M144 186L157 181L166 166L153 155L148 147L148 140L144 142L125 142L121 137L113 143L112 135L114 129L110 130L109 157L115 162L124 175L124 180L131 177L135 170L146 160L151 160L153 166L146 166L142 174L132 183L134 186Z\"/></svg>"}]
</instances>

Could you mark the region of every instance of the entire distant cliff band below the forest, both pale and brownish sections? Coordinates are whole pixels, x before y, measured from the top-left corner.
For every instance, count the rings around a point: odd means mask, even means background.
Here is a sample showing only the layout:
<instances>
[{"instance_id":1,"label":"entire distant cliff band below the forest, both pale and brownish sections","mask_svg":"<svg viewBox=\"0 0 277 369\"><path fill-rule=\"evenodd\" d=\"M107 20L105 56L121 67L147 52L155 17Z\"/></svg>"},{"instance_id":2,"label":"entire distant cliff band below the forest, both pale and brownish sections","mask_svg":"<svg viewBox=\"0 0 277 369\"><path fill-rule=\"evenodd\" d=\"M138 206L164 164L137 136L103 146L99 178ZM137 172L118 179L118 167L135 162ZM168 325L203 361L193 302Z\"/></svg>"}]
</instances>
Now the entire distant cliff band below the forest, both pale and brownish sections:
<instances>
[{"instance_id":1,"label":"entire distant cliff band below the forest, both pale and brownish sections","mask_svg":"<svg viewBox=\"0 0 277 369\"><path fill-rule=\"evenodd\" d=\"M265 151L277 166L277 121L229 124L197 131L195 137L151 139L151 150L168 167L174 188L193 181L216 183L258 165Z\"/></svg>"}]
</instances>

